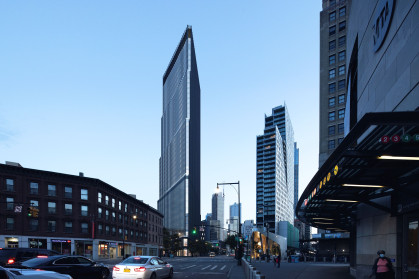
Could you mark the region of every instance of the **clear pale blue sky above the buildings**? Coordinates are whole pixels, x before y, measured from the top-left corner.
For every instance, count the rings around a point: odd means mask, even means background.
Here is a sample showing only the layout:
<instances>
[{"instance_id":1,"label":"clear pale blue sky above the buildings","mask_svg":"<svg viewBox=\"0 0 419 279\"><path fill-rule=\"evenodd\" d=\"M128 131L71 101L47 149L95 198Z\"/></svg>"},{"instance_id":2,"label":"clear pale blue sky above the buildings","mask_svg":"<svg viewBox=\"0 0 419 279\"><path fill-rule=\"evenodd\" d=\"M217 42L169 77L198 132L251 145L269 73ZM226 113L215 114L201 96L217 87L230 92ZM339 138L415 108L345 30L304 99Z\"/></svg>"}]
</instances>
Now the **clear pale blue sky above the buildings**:
<instances>
[{"instance_id":1,"label":"clear pale blue sky above the buildings","mask_svg":"<svg viewBox=\"0 0 419 279\"><path fill-rule=\"evenodd\" d=\"M192 25L201 219L217 182L256 216L256 136L286 104L299 194L318 168L321 1L0 3L0 163L98 178L157 208L163 74ZM225 186L225 218L237 194Z\"/></svg>"}]
</instances>

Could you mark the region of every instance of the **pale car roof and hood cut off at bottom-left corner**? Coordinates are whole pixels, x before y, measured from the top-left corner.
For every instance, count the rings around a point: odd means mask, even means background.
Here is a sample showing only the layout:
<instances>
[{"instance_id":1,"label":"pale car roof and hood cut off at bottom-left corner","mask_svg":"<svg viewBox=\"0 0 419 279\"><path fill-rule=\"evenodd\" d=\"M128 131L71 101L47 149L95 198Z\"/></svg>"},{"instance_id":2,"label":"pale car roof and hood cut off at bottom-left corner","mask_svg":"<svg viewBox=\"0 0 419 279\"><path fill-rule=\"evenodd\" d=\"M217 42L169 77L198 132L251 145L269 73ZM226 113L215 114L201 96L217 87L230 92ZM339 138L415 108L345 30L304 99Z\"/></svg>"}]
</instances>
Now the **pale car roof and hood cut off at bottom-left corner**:
<instances>
[{"instance_id":1,"label":"pale car roof and hood cut off at bottom-left corner","mask_svg":"<svg viewBox=\"0 0 419 279\"><path fill-rule=\"evenodd\" d=\"M73 279L70 275L60 274L54 271L2 268L0 267L0 279Z\"/></svg>"}]
</instances>

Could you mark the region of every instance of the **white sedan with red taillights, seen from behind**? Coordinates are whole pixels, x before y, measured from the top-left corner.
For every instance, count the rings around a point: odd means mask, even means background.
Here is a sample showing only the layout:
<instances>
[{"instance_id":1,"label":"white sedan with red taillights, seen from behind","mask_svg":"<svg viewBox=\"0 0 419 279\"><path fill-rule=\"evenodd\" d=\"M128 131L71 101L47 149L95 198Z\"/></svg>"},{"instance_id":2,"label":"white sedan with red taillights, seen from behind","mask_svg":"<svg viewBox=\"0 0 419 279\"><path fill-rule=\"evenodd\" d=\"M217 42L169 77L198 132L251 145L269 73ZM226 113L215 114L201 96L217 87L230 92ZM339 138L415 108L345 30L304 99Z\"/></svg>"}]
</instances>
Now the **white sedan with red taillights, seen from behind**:
<instances>
[{"instance_id":1,"label":"white sedan with red taillights, seen from behind","mask_svg":"<svg viewBox=\"0 0 419 279\"><path fill-rule=\"evenodd\" d=\"M131 256L113 267L112 278L173 278L173 266L159 257Z\"/></svg>"}]
</instances>

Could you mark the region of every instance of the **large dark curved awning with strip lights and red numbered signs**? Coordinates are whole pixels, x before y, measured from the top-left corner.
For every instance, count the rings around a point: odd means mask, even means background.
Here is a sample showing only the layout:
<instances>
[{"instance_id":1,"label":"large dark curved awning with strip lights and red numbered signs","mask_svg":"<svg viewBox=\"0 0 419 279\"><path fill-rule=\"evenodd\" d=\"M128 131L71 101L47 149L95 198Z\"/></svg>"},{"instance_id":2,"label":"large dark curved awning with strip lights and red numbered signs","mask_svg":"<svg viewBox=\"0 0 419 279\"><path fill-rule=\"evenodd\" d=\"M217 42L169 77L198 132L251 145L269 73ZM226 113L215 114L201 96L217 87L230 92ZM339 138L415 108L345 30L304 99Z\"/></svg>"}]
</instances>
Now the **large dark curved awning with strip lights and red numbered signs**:
<instances>
[{"instance_id":1,"label":"large dark curved awning with strip lights and red numbered signs","mask_svg":"<svg viewBox=\"0 0 419 279\"><path fill-rule=\"evenodd\" d=\"M359 204L397 214L376 200L394 194L419 200L418 183L419 111L368 113L314 175L296 213L310 226L348 231Z\"/></svg>"}]
</instances>

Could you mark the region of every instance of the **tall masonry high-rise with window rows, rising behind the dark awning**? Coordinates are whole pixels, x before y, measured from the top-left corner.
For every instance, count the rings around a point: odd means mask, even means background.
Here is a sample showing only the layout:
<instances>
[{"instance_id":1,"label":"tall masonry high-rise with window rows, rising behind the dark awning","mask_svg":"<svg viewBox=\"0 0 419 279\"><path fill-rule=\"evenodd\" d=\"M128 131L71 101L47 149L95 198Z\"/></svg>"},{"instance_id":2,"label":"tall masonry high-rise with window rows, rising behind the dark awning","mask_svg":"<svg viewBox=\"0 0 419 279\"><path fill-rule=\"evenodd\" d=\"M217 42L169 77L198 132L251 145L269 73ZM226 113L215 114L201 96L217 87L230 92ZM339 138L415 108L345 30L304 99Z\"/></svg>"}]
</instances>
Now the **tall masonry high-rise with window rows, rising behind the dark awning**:
<instances>
[{"instance_id":1,"label":"tall masonry high-rise with window rows, rising behind the dark awning","mask_svg":"<svg viewBox=\"0 0 419 279\"><path fill-rule=\"evenodd\" d=\"M351 0L323 0L320 12L319 167L344 138L346 23Z\"/></svg>"}]
</instances>

